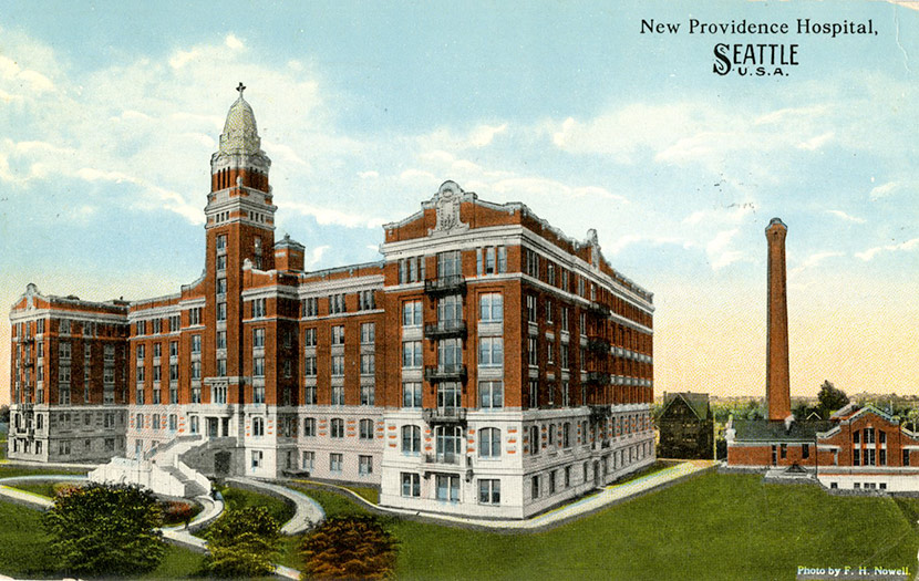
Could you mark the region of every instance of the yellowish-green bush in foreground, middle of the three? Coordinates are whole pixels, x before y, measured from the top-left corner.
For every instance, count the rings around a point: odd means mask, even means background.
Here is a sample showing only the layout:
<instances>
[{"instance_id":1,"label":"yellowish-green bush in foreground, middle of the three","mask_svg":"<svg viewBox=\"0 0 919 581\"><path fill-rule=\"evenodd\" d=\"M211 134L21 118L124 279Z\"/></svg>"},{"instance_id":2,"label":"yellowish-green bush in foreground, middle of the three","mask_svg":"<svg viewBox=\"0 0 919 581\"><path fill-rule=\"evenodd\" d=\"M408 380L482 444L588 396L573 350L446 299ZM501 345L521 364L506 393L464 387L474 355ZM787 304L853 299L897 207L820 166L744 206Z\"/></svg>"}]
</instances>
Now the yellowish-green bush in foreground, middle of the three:
<instances>
[{"instance_id":1,"label":"yellowish-green bush in foreground, middle of the three","mask_svg":"<svg viewBox=\"0 0 919 581\"><path fill-rule=\"evenodd\" d=\"M218 577L259 577L280 557L280 526L265 507L229 510L207 533L208 571Z\"/></svg>"}]
</instances>

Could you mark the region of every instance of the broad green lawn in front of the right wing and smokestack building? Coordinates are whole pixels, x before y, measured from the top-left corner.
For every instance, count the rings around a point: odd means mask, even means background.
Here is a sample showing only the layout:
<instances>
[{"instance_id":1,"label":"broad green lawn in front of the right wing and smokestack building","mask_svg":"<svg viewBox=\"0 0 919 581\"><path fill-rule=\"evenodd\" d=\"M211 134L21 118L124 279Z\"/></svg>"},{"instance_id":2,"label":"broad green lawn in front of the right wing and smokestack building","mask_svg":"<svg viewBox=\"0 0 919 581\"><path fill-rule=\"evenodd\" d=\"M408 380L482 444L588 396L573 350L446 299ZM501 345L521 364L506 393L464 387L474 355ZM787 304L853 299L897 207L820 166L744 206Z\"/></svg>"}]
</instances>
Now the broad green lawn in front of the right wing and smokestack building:
<instances>
[{"instance_id":1,"label":"broad green lawn in front of the right wing and smokestack building","mask_svg":"<svg viewBox=\"0 0 919 581\"><path fill-rule=\"evenodd\" d=\"M303 489L332 515L365 512ZM905 516L907 512L907 516ZM913 499L708 474L539 533L392 519L400 579L794 579L797 566L915 568ZM297 561L289 561L296 567Z\"/></svg>"}]
</instances>

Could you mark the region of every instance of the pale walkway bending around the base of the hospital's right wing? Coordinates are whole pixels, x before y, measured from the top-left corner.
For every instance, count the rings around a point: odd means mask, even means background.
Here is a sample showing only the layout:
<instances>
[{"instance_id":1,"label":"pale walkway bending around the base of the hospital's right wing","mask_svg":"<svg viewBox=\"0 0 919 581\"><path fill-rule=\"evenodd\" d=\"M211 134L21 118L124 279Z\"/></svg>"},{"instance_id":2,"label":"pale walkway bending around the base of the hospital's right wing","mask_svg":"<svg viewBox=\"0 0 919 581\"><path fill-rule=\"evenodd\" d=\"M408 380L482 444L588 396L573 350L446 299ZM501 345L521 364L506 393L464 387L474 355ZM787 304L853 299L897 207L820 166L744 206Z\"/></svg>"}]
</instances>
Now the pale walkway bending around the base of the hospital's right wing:
<instances>
[{"instance_id":1,"label":"pale walkway bending around the base of the hospital's right wing","mask_svg":"<svg viewBox=\"0 0 919 581\"><path fill-rule=\"evenodd\" d=\"M719 463L712 460L692 460L671 466L662 470L649 474L647 476L638 477L633 480L620 485L610 485L603 487L602 490L585 497L575 502L561 506L548 512L544 512L537 517L525 520L494 520L494 519L475 519L467 517L454 517L451 515L436 515L433 512L421 512L416 510L404 510L399 508L388 508L380 505L374 505L360 495L340 486L332 486L342 490L357 499L359 502L371 507L380 512L391 515L402 515L410 517L422 517L432 521L450 522L463 527L482 528L492 530L541 530L557 527L571 520L576 517L595 512L601 508L617 505L630 498L641 496L658 488L675 484L683 480L693 474L714 469Z\"/></svg>"}]
</instances>

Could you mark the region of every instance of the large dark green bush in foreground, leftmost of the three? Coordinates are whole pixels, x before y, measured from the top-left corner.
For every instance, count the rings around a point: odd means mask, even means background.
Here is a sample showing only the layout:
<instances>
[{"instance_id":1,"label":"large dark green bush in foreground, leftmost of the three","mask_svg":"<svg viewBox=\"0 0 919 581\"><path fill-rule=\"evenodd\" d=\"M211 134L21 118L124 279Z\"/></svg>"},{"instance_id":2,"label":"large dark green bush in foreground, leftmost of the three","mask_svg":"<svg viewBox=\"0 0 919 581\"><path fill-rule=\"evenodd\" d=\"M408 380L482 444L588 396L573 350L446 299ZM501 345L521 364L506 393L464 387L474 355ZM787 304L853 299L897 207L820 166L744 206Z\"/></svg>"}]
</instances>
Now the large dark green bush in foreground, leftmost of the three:
<instances>
[{"instance_id":1,"label":"large dark green bush in foreground, leftmost of the three","mask_svg":"<svg viewBox=\"0 0 919 581\"><path fill-rule=\"evenodd\" d=\"M162 523L153 492L127 485L64 489L44 515L50 550L66 571L87 575L154 569L165 552Z\"/></svg>"}]
</instances>

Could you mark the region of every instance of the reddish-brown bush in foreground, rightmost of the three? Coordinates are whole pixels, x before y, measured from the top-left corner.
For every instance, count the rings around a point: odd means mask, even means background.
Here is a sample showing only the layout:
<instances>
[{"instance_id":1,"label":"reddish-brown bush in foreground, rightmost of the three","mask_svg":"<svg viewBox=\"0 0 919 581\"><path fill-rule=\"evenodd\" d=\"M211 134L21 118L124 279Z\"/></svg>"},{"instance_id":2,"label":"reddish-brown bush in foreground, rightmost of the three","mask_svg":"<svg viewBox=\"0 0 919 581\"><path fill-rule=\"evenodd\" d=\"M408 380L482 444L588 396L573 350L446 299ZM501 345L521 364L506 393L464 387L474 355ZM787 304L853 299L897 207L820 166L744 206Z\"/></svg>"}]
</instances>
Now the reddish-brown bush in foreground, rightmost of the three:
<instances>
[{"instance_id":1,"label":"reddish-brown bush in foreground, rightmost of the three","mask_svg":"<svg viewBox=\"0 0 919 581\"><path fill-rule=\"evenodd\" d=\"M331 518L300 550L301 579L384 579L395 569L399 541L374 517Z\"/></svg>"}]
</instances>

